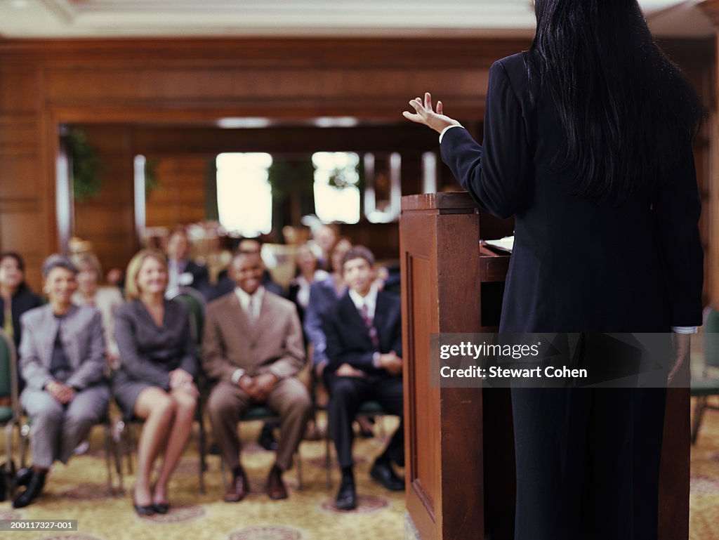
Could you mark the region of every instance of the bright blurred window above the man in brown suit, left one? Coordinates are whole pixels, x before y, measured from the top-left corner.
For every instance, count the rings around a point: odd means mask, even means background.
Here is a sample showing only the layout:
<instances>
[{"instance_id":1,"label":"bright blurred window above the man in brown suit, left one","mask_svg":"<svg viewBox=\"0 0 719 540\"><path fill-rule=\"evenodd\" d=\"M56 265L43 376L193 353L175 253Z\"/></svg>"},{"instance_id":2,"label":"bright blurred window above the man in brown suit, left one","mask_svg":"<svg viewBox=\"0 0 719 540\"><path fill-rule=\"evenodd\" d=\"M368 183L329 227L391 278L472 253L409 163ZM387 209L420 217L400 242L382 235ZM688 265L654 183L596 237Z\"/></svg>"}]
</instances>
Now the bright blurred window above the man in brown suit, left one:
<instances>
[{"instance_id":1,"label":"bright blurred window above the man in brown suit, left one","mask_svg":"<svg viewBox=\"0 0 719 540\"><path fill-rule=\"evenodd\" d=\"M217 156L217 209L228 232L256 237L272 229L272 189L267 169L272 156L264 153L224 153Z\"/></svg>"}]
</instances>

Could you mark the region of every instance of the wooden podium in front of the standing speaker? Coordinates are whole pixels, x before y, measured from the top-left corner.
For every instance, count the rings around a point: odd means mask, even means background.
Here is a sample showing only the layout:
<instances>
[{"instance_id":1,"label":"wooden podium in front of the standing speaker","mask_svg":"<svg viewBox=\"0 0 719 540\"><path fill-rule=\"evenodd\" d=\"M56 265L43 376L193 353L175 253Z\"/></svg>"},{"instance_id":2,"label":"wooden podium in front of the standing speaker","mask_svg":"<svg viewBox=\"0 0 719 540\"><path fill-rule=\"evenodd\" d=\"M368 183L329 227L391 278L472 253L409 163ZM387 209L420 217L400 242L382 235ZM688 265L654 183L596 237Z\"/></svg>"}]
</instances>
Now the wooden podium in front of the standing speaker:
<instances>
[{"instance_id":1,"label":"wooden podium in front of the standing speaker","mask_svg":"<svg viewBox=\"0 0 719 540\"><path fill-rule=\"evenodd\" d=\"M503 232L503 225L491 219L481 225L485 239ZM497 230L487 233L489 229ZM406 538L513 540L508 390L430 387L430 334L498 329L509 256L488 250L480 239L480 216L467 193L403 197ZM670 390L660 540L689 535L689 411L689 390Z\"/></svg>"}]
</instances>

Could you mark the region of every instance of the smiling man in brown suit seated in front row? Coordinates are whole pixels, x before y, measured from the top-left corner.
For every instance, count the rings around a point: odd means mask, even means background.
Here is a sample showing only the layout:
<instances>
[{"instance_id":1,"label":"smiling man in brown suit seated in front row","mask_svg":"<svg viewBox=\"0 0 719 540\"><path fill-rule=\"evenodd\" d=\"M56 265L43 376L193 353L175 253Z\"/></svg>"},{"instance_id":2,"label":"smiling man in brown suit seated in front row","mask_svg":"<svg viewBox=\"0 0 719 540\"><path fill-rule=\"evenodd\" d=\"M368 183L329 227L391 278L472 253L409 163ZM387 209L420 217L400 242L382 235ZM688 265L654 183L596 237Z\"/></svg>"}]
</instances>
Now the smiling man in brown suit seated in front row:
<instances>
[{"instance_id":1,"label":"smiling man in brown suit seated in front row","mask_svg":"<svg viewBox=\"0 0 719 540\"><path fill-rule=\"evenodd\" d=\"M203 367L217 380L208 401L212 431L233 481L227 502L242 500L249 491L239 463L237 421L253 403L265 403L280 415L277 460L267 477L267 494L287 498L282 473L305 431L312 404L305 386L295 377L305 362L302 329L295 305L262 287L262 259L237 253L229 276L237 285L211 302L203 335Z\"/></svg>"}]
</instances>

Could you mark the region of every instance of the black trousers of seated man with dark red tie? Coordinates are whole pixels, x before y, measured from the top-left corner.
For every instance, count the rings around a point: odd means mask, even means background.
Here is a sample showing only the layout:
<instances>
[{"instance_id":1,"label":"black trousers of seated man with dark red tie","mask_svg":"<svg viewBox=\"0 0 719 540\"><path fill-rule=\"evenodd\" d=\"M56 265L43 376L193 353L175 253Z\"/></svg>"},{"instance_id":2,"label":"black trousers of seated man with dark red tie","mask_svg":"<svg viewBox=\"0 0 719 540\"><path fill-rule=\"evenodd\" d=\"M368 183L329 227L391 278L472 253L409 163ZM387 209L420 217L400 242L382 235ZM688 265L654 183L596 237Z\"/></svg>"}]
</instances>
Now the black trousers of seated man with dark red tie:
<instances>
[{"instance_id":1,"label":"black trousers of seated man with dark red tie","mask_svg":"<svg viewBox=\"0 0 719 540\"><path fill-rule=\"evenodd\" d=\"M378 459L404 466L404 406L402 377L374 375L368 377L338 377L334 373L324 377L329 391L327 415L329 432L334 440L339 467L352 467L352 421L365 401L377 401L388 414L400 417L400 425L390 439L385 452Z\"/></svg>"}]
</instances>

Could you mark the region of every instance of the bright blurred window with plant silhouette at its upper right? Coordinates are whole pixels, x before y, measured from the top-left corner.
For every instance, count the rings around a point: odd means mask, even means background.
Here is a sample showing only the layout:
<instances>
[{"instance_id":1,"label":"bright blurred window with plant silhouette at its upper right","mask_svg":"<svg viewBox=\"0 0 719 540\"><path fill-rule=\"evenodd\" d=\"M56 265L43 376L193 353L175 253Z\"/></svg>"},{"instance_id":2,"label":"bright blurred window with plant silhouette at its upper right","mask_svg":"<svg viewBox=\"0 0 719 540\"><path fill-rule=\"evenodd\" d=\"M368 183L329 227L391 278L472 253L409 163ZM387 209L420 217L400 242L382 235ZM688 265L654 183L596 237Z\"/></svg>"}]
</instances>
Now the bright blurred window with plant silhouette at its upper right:
<instances>
[{"instance_id":1,"label":"bright blurred window with plant silhouette at its upper right","mask_svg":"<svg viewBox=\"0 0 719 540\"><path fill-rule=\"evenodd\" d=\"M359 155L353 152L316 152L315 211L325 223L359 221Z\"/></svg>"}]
</instances>

